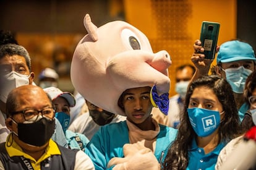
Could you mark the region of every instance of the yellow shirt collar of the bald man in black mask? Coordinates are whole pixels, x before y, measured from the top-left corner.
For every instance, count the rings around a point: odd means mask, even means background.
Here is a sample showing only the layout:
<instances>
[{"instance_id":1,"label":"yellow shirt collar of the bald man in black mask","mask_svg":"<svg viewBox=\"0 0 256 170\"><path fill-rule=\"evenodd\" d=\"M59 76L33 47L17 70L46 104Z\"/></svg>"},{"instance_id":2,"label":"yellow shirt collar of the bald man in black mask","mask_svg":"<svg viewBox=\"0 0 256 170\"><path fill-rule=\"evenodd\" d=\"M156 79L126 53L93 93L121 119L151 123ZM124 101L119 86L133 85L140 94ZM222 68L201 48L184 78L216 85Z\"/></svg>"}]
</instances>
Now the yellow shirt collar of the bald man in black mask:
<instances>
[{"instance_id":1,"label":"yellow shirt collar of the bald man in black mask","mask_svg":"<svg viewBox=\"0 0 256 170\"><path fill-rule=\"evenodd\" d=\"M12 156L23 156L26 159L30 159L30 163L35 170L41 170L40 163L44 161L45 159L49 158L51 155L61 155L61 151L59 151L59 148L53 140L49 140L49 145L45 150L45 153L41 156L38 161L36 161L32 156L28 155L27 153L24 153L22 151L22 148L12 139L12 134L9 134L7 139L9 138L8 143L6 142L6 151L9 154L10 157ZM12 143L11 143L12 142ZM11 145L11 146L10 146ZM7 147L10 146L10 147Z\"/></svg>"}]
</instances>

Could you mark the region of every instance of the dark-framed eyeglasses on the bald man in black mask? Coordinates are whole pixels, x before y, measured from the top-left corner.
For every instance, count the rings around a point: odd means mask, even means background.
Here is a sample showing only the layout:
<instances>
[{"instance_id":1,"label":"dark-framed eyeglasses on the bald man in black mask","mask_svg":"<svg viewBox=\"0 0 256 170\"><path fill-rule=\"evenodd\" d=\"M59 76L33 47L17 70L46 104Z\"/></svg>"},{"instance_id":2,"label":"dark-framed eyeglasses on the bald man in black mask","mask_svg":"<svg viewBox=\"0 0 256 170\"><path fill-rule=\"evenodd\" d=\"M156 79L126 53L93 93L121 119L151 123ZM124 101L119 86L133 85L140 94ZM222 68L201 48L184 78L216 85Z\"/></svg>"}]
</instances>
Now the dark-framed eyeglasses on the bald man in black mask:
<instances>
[{"instance_id":1,"label":"dark-framed eyeglasses on the bald man in black mask","mask_svg":"<svg viewBox=\"0 0 256 170\"><path fill-rule=\"evenodd\" d=\"M46 118L49 118L49 119L53 119L53 117L55 116L54 108L45 108L45 109L41 109L41 110L25 109L23 111L15 111L15 112L12 113L12 115L19 114L19 113L22 113L25 121L31 121L30 119L33 118L34 122L38 119L39 113L41 113L41 115L43 117L46 117Z\"/></svg>"}]
</instances>

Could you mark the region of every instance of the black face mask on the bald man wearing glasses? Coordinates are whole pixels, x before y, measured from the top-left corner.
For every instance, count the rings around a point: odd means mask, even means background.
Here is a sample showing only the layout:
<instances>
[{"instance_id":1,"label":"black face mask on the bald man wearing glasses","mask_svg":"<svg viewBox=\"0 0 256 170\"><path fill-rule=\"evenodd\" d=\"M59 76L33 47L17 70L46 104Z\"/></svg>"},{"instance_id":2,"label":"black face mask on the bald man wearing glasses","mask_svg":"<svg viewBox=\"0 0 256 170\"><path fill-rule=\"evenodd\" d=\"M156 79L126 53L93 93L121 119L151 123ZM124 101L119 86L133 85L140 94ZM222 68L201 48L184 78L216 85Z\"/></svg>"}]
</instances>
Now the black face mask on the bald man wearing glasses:
<instances>
[{"instance_id":1,"label":"black face mask on the bald man wearing glasses","mask_svg":"<svg viewBox=\"0 0 256 170\"><path fill-rule=\"evenodd\" d=\"M16 123L16 122L15 122ZM41 147L49 141L55 129L55 119L48 120L45 117L31 124L17 123L18 137L24 143Z\"/></svg>"}]
</instances>

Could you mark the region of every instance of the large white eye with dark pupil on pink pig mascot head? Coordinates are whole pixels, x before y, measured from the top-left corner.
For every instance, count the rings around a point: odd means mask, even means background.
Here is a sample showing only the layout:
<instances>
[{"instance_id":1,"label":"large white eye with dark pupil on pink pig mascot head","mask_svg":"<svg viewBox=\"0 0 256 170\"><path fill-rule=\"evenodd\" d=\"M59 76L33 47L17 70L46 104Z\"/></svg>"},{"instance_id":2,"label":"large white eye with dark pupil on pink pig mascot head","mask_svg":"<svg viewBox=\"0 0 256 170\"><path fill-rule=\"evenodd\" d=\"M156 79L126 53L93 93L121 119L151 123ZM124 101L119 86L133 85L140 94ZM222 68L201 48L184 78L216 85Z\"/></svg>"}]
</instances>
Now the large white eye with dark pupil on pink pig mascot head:
<instances>
[{"instance_id":1,"label":"large white eye with dark pupil on pink pig mascot head","mask_svg":"<svg viewBox=\"0 0 256 170\"><path fill-rule=\"evenodd\" d=\"M122 42L128 49L140 49L140 41L139 38L129 29L122 30L121 33Z\"/></svg>"}]
</instances>

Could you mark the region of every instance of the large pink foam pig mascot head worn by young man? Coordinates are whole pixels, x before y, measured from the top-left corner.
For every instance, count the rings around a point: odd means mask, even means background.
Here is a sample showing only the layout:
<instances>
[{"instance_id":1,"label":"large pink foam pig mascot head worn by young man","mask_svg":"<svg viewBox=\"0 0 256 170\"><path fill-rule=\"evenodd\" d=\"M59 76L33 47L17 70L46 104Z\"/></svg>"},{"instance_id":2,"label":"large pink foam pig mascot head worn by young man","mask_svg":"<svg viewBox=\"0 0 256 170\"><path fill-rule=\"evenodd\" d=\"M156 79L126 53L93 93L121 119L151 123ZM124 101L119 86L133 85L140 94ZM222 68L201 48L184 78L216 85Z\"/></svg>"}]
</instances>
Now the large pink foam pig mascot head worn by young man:
<instances>
[{"instance_id":1,"label":"large pink foam pig mascot head worn by young man","mask_svg":"<svg viewBox=\"0 0 256 170\"><path fill-rule=\"evenodd\" d=\"M150 86L153 106L167 114L168 52L153 53L147 36L127 22L98 28L86 14L83 24L88 34L75 48L70 70L75 89L96 106L125 116L117 104L122 92Z\"/></svg>"}]
</instances>

